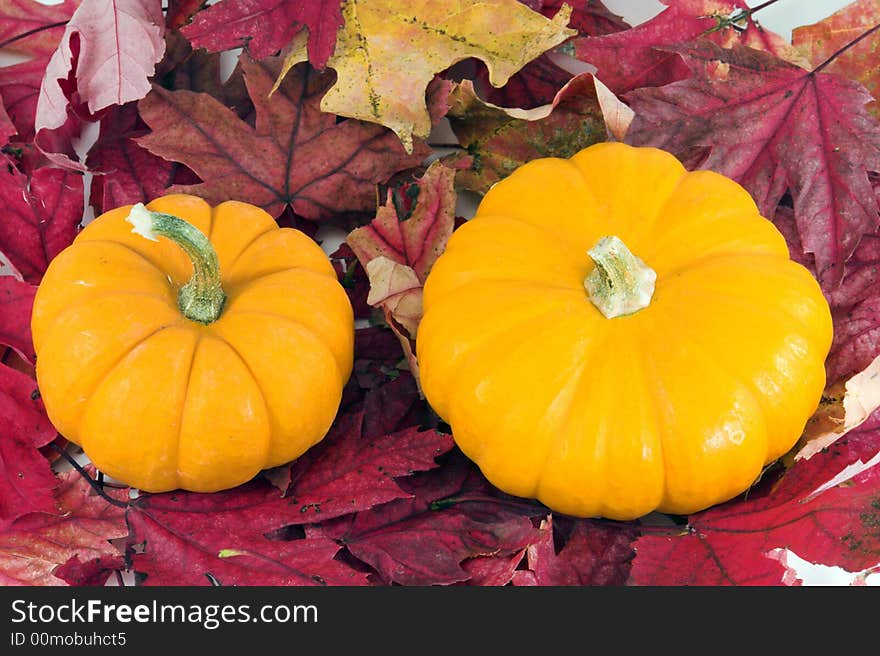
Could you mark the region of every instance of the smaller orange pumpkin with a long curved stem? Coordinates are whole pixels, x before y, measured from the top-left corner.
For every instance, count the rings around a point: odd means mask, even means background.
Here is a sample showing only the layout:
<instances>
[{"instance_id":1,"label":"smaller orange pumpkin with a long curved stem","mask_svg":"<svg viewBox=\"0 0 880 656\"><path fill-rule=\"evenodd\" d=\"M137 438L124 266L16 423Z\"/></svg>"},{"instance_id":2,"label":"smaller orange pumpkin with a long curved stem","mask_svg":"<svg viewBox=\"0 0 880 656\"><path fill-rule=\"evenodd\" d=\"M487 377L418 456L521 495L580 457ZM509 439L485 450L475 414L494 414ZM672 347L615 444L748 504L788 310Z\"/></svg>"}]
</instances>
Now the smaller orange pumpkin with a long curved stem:
<instances>
[{"instance_id":1,"label":"smaller orange pumpkin with a long curved stem","mask_svg":"<svg viewBox=\"0 0 880 656\"><path fill-rule=\"evenodd\" d=\"M40 393L119 481L233 487L327 433L352 308L321 248L258 207L175 194L147 208L99 216L50 263L32 317Z\"/></svg>"}]
</instances>

